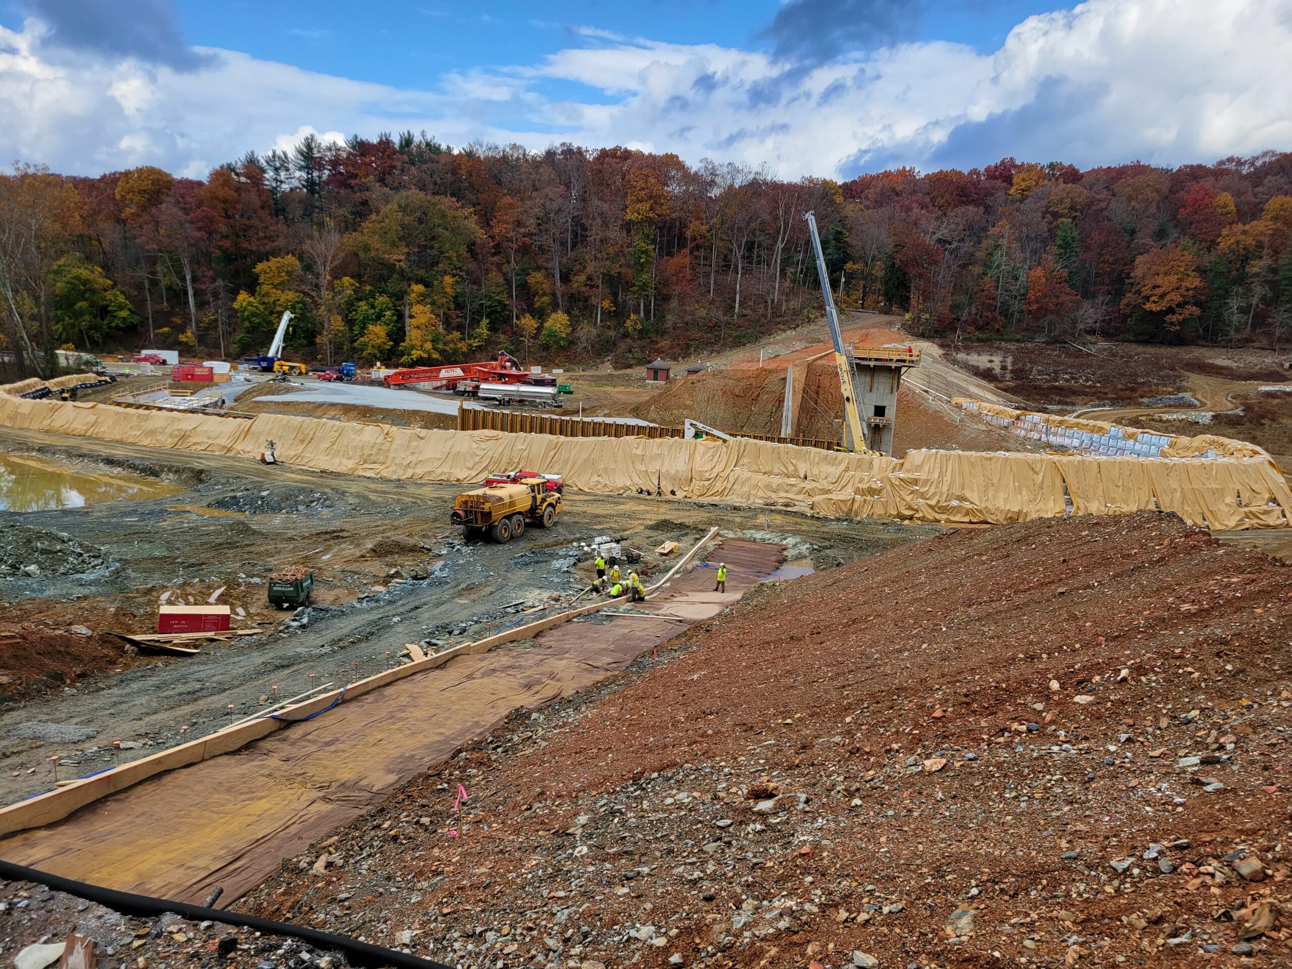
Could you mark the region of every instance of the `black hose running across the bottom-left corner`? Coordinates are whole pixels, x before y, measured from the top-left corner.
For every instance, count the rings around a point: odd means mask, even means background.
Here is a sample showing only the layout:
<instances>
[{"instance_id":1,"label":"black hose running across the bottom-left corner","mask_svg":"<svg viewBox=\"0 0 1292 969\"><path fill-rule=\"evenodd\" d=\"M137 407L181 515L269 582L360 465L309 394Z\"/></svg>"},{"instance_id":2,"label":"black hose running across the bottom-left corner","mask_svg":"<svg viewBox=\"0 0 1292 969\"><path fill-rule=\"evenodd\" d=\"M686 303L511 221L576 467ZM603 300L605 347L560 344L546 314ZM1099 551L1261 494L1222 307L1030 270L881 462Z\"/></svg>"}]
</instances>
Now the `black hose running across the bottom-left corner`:
<instances>
[{"instance_id":1,"label":"black hose running across the bottom-left corner","mask_svg":"<svg viewBox=\"0 0 1292 969\"><path fill-rule=\"evenodd\" d=\"M452 969L452 966L437 963L432 959L421 959L407 952L398 952L393 948L382 948L367 942L358 942L345 935L333 935L329 932L306 929L289 922L275 922L270 919L257 919L255 915L242 915L240 912L226 912L221 908L204 908L191 906L187 902L167 902L163 898L150 895L134 895L129 891L116 891L115 889L87 885L83 881L72 881L58 875L48 875L35 868L26 868L21 864L0 860L0 877L8 881L34 881L54 891L65 891L89 902L97 902L105 908L134 916L177 915L189 921L213 921L225 925L236 925L243 929L255 929L271 935L291 935L292 938L309 942L322 950L336 950L344 952L350 965L363 966L363 969L384 969L384 966L399 966L399 969Z\"/></svg>"}]
</instances>

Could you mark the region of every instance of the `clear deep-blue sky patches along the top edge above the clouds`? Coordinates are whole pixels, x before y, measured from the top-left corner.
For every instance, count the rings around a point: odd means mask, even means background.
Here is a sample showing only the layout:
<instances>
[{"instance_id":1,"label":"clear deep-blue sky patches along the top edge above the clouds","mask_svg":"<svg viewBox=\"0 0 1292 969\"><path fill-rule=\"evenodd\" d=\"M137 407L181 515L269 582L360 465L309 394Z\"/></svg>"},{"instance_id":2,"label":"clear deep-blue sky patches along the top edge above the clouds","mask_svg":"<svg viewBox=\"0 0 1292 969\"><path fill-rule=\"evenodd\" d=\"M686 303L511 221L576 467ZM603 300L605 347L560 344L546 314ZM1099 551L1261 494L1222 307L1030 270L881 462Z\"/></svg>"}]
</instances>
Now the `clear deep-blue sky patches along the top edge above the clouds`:
<instances>
[{"instance_id":1,"label":"clear deep-blue sky patches along the top edge above the clouds","mask_svg":"<svg viewBox=\"0 0 1292 969\"><path fill-rule=\"evenodd\" d=\"M1068 4L1071 5L1071 4ZM770 50L760 32L783 6L778 0L575 0L571 3L450 3L398 0L180 0L190 44L245 50L324 74L417 88L447 70L532 63L576 39L579 27L672 44L721 44ZM1016 23L1062 3L966 0L911 9L908 39L953 40L995 50ZM21 5L17 8L21 10ZM376 13L380 9L380 13ZM6 26L21 23L21 13ZM824 27L824 25L823 25Z\"/></svg>"}]
</instances>

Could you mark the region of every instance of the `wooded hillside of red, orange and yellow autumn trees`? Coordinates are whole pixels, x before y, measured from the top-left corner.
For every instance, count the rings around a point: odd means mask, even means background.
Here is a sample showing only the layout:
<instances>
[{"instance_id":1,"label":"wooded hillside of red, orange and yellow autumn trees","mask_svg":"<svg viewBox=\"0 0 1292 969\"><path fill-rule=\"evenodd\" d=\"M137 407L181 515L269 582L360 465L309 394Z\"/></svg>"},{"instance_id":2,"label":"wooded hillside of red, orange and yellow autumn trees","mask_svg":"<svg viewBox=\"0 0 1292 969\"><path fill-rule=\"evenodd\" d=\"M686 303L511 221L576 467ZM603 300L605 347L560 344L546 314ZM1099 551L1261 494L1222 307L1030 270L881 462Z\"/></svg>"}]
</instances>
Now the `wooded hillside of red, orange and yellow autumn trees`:
<instances>
[{"instance_id":1,"label":"wooded hillside of red, orange and yellow autumn trees","mask_svg":"<svg viewBox=\"0 0 1292 969\"><path fill-rule=\"evenodd\" d=\"M1085 172L1004 159L849 182L571 145L309 137L204 180L0 176L0 350L264 351L421 364L506 349L627 366L844 305L957 340L1286 339L1292 154ZM48 372L48 370L47 370Z\"/></svg>"}]
</instances>

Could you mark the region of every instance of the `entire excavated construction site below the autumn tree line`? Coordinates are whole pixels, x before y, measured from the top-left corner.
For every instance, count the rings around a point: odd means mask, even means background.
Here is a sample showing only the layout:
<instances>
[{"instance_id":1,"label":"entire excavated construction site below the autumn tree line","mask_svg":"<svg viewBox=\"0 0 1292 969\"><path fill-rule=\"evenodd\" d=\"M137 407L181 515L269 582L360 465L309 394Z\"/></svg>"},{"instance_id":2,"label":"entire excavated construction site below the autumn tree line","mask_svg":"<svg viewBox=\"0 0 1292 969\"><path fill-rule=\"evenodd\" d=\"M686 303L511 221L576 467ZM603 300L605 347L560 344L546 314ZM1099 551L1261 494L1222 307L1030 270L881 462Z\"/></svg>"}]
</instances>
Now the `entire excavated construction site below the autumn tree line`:
<instances>
[{"instance_id":1,"label":"entire excavated construction site below the autumn tree line","mask_svg":"<svg viewBox=\"0 0 1292 969\"><path fill-rule=\"evenodd\" d=\"M823 292L676 379L0 388L5 957L1287 965L1275 457Z\"/></svg>"}]
</instances>

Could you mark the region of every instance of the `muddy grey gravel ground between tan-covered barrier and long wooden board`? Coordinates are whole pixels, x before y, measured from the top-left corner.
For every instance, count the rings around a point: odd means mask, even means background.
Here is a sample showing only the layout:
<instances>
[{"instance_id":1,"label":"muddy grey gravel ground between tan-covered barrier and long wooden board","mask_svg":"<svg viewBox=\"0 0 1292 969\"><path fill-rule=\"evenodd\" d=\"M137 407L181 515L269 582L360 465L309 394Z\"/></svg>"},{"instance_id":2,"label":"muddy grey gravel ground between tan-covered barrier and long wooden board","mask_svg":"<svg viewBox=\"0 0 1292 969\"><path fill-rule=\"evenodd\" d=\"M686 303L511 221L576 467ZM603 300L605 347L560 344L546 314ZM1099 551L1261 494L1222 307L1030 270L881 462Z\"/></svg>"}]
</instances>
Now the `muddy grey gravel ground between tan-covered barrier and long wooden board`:
<instances>
[{"instance_id":1,"label":"muddy grey gravel ground between tan-covered barrier and long wooden board","mask_svg":"<svg viewBox=\"0 0 1292 969\"><path fill-rule=\"evenodd\" d=\"M186 488L155 501L0 516L6 537L17 530L63 532L102 549L109 562L92 574L0 581L6 624L151 630L163 594L171 602L204 602L221 588L218 601L245 614L235 627L273 623L260 627L267 630L262 636L205 645L196 656L123 663L121 672L83 680L71 690L0 705L4 802L48 789L54 753L61 755L61 778L87 774L115 761L114 740L142 744L121 753L123 760L154 753L211 733L231 716L249 716L273 696L379 672L398 662L404 643L430 641L433 649L446 649L481 638L522 609L585 587L590 563L571 561L576 540L623 536L646 550L667 539L685 545L718 525L734 535L770 531L796 539L796 554L811 556L820 568L938 531L753 506L567 494L566 512L552 531L527 531L509 545L465 544L447 525L457 484L266 468L13 430L0 432L0 446L85 466L124 466ZM292 621L267 606L262 584L289 563L313 566L318 579L317 605Z\"/></svg>"}]
</instances>

